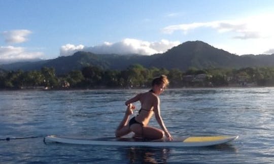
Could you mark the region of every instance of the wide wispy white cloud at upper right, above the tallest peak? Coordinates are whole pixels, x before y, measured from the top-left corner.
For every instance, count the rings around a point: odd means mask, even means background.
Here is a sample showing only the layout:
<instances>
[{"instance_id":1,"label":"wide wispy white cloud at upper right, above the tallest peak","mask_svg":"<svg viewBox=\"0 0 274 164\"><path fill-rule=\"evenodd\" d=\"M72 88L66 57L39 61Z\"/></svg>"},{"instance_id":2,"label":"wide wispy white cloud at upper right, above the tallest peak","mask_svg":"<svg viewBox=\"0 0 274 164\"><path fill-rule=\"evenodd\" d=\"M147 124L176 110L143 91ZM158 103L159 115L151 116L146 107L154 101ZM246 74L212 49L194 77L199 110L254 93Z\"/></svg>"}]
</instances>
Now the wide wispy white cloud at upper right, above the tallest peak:
<instances>
[{"instance_id":1,"label":"wide wispy white cloud at upper right, above the tallest peak","mask_svg":"<svg viewBox=\"0 0 274 164\"><path fill-rule=\"evenodd\" d=\"M181 30L184 34L187 34L189 30L194 30L196 28L213 28L220 33L234 32L235 34L233 38L237 39L273 37L273 17L273 14L261 14L237 20L194 22L170 25L164 27L162 31L164 33L172 34L175 31Z\"/></svg>"}]
</instances>

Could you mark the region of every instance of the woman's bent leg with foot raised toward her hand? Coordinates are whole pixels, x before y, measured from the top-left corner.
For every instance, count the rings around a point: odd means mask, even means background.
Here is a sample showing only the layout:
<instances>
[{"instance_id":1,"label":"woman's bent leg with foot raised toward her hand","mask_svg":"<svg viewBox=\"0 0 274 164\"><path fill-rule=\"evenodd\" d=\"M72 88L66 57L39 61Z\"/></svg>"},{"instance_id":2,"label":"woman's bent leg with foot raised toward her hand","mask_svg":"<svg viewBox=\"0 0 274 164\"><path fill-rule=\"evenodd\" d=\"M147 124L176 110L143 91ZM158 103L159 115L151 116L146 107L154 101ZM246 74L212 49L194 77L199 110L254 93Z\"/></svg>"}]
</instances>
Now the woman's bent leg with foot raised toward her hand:
<instances>
[{"instance_id":1,"label":"woman's bent leg with foot raised toward her hand","mask_svg":"<svg viewBox=\"0 0 274 164\"><path fill-rule=\"evenodd\" d=\"M128 133L130 133L130 129L129 129L129 125L128 125L128 119L129 116L133 113L132 111L132 106L129 105L126 109L124 118L122 119L122 121L120 122L118 128L115 131L115 136L116 137L122 137L124 135L127 135Z\"/></svg>"}]
</instances>

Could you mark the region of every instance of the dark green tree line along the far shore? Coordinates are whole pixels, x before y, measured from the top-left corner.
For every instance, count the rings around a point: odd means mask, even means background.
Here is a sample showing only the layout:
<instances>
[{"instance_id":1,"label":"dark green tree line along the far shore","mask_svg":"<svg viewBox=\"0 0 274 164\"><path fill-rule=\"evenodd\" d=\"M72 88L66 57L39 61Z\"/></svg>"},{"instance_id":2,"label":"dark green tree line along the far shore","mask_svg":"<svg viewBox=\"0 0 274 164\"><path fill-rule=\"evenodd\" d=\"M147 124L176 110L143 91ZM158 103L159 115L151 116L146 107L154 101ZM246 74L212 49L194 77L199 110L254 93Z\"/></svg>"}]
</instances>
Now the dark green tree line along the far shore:
<instances>
[{"instance_id":1,"label":"dark green tree line along the far shore","mask_svg":"<svg viewBox=\"0 0 274 164\"><path fill-rule=\"evenodd\" d=\"M83 88L148 88L154 77L165 74L170 87L274 86L274 67L242 69L145 68L135 64L125 70L105 70L97 66L83 67L63 75L54 68L32 71L1 71L0 89L83 89Z\"/></svg>"}]
</instances>

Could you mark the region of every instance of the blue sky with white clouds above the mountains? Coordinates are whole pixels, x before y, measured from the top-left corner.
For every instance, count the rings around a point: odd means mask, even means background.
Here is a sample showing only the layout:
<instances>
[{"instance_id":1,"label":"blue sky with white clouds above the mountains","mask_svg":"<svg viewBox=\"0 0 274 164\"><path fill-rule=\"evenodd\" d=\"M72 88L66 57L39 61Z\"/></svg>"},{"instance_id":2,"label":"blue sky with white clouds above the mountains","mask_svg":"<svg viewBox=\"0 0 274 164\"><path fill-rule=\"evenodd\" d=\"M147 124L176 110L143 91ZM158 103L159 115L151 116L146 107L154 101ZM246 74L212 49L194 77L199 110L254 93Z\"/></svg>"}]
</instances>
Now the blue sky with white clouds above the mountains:
<instances>
[{"instance_id":1,"label":"blue sky with white clouds above the mountains","mask_svg":"<svg viewBox=\"0 0 274 164\"><path fill-rule=\"evenodd\" d=\"M76 51L152 55L201 40L274 53L274 1L0 0L0 64Z\"/></svg>"}]
</instances>

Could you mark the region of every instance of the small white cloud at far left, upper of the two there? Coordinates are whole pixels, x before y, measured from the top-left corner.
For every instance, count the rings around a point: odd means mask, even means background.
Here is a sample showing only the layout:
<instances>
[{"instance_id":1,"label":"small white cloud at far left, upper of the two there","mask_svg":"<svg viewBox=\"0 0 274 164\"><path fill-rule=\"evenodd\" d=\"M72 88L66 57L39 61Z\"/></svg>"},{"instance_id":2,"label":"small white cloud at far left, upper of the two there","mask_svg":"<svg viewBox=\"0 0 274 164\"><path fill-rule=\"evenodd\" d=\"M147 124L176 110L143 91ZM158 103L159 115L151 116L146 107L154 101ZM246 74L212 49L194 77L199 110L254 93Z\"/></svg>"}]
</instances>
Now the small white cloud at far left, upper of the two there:
<instances>
[{"instance_id":1,"label":"small white cloud at far left, upper of the two there","mask_svg":"<svg viewBox=\"0 0 274 164\"><path fill-rule=\"evenodd\" d=\"M11 30L2 32L5 42L8 44L16 44L26 42L27 36L31 33L30 30Z\"/></svg>"}]
</instances>

